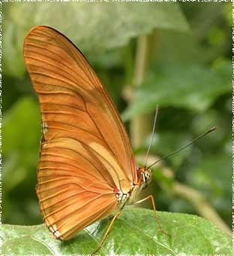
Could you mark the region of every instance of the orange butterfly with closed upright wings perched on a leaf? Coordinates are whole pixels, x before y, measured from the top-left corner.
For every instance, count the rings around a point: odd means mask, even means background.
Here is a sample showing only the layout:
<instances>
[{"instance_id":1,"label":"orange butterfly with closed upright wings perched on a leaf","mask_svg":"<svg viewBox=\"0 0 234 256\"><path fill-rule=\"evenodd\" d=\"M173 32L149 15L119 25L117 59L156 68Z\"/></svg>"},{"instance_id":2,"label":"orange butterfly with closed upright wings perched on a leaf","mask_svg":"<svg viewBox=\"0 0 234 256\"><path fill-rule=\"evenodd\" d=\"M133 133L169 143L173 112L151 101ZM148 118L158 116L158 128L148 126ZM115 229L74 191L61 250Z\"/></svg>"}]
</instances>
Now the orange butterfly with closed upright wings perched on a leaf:
<instances>
[{"instance_id":1,"label":"orange butterfly with closed upright wings perched on a leaf","mask_svg":"<svg viewBox=\"0 0 234 256\"><path fill-rule=\"evenodd\" d=\"M136 169L115 105L68 38L36 26L26 35L24 59L40 102L37 197L43 220L55 238L66 240L118 207L98 251L125 204L150 181L151 170ZM147 199L156 217L153 197Z\"/></svg>"}]
</instances>

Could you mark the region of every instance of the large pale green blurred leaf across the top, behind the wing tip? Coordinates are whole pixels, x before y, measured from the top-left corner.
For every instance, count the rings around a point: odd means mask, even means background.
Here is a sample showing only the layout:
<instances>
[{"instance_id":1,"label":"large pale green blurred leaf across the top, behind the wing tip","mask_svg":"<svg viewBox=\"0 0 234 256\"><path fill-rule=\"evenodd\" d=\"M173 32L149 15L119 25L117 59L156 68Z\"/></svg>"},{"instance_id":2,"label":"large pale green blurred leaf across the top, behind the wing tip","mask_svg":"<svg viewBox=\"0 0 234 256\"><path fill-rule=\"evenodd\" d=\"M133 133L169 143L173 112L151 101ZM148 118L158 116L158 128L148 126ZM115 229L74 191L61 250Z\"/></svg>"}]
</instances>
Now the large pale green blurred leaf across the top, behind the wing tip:
<instances>
[{"instance_id":1,"label":"large pale green blurred leaf across the top, behind the wing tip","mask_svg":"<svg viewBox=\"0 0 234 256\"><path fill-rule=\"evenodd\" d=\"M126 45L153 29L187 31L187 22L173 3L10 3L5 10L5 72L22 75L23 39L32 26L52 26L64 33L92 60L104 50ZM20 17L24 17L21 19ZM71 20L72 23L68 22Z\"/></svg>"}]
</instances>

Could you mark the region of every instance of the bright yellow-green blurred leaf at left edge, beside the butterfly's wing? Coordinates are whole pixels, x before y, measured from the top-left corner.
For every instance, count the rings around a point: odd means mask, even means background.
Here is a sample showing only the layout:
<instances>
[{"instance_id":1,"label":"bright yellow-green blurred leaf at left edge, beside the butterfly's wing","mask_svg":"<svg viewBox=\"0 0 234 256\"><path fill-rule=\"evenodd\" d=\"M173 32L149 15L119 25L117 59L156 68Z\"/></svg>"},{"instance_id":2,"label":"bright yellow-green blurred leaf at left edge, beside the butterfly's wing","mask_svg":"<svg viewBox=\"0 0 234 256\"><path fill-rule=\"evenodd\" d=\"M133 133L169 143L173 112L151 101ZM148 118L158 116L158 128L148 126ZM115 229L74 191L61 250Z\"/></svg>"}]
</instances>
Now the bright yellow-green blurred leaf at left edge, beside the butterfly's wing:
<instances>
[{"instance_id":1,"label":"bright yellow-green blurred leaf at left edge, beside the butterfly's wing","mask_svg":"<svg viewBox=\"0 0 234 256\"><path fill-rule=\"evenodd\" d=\"M16 102L3 117L2 154L5 157L3 177L5 192L30 176L36 169L40 147L39 106L31 97Z\"/></svg>"}]
</instances>

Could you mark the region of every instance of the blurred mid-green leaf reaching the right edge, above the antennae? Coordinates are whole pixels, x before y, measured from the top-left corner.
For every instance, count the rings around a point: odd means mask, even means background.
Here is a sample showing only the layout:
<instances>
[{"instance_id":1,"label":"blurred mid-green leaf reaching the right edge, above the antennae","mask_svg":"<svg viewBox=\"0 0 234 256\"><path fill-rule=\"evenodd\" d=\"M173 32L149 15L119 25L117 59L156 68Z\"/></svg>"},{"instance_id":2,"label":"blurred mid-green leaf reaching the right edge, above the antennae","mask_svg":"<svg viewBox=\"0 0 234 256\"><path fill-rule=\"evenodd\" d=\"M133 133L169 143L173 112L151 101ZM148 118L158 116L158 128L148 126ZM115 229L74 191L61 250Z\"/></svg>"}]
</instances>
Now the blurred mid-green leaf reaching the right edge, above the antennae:
<instances>
[{"instance_id":1,"label":"blurred mid-green leaf reaching the right edge, above the antennae","mask_svg":"<svg viewBox=\"0 0 234 256\"><path fill-rule=\"evenodd\" d=\"M231 72L230 64L215 70L205 66L171 66L154 72L136 90L132 105L122 117L128 120L154 111L156 105L205 111L218 96L231 92Z\"/></svg>"}]
</instances>

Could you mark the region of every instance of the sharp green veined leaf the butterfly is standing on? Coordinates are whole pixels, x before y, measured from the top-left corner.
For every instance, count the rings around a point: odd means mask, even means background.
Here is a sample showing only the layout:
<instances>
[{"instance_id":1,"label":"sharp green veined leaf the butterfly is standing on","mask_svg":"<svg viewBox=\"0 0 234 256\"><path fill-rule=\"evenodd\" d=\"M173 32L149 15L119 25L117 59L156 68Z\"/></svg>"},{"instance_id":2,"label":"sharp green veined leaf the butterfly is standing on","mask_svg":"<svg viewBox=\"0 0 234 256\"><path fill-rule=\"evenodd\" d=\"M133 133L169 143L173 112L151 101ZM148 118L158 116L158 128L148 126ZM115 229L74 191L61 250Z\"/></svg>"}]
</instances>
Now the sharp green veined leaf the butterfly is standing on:
<instances>
[{"instance_id":1,"label":"sharp green veined leaf the butterfly is standing on","mask_svg":"<svg viewBox=\"0 0 234 256\"><path fill-rule=\"evenodd\" d=\"M127 206L98 254L232 254L232 239L195 215L157 212L163 234L148 209ZM45 225L3 225L3 254L91 254L113 216L96 222L69 241L52 238Z\"/></svg>"}]
</instances>

